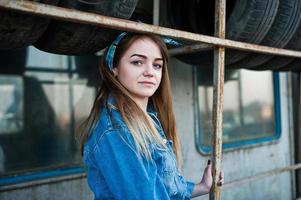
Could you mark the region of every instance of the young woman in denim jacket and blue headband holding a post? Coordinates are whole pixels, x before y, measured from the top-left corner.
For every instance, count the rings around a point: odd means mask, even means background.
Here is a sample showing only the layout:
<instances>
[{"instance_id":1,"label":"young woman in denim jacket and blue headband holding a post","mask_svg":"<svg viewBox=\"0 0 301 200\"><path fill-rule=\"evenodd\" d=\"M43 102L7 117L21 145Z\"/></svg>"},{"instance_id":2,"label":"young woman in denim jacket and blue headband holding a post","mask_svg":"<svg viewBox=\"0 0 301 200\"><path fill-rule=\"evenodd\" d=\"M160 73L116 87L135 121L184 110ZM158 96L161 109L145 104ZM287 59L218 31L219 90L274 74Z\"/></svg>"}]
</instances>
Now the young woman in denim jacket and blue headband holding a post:
<instances>
[{"instance_id":1,"label":"young woman in denim jacket and blue headband holding a post","mask_svg":"<svg viewBox=\"0 0 301 200\"><path fill-rule=\"evenodd\" d=\"M152 34L124 32L106 51L102 85L81 138L95 199L190 199L209 192L210 162L197 184L179 173L167 62L165 43Z\"/></svg>"}]
</instances>

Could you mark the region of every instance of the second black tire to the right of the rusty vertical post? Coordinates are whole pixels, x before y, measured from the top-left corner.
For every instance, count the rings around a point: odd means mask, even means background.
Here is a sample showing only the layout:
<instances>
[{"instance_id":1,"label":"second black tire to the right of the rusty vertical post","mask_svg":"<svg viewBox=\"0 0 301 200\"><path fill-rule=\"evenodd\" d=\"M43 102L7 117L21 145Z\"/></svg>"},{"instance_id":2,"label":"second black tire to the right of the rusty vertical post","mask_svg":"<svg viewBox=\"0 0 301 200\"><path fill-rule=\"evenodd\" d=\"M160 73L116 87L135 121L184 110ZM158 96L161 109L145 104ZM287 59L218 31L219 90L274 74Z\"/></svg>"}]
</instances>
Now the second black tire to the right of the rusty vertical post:
<instances>
[{"instance_id":1,"label":"second black tire to the right of the rusty vertical post","mask_svg":"<svg viewBox=\"0 0 301 200\"><path fill-rule=\"evenodd\" d=\"M275 21L260 43L266 46L283 48L294 36L301 21L301 1L280 0ZM260 65L270 60L272 55L250 53L243 60L230 65L231 68L260 69Z\"/></svg>"}]
</instances>

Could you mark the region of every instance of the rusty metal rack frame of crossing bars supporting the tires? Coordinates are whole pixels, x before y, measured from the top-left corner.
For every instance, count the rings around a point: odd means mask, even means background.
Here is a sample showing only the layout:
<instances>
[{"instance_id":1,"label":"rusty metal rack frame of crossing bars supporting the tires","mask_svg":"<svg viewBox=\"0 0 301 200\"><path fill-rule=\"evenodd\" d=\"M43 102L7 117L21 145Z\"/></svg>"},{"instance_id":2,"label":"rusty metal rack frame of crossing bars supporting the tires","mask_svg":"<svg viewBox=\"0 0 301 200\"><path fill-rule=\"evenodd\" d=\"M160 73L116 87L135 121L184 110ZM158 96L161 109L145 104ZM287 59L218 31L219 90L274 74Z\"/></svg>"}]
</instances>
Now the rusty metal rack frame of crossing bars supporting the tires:
<instances>
[{"instance_id":1,"label":"rusty metal rack frame of crossing bars supporting the tires","mask_svg":"<svg viewBox=\"0 0 301 200\"><path fill-rule=\"evenodd\" d=\"M155 5L158 4L158 1ZM222 113L223 113L223 86L224 86L224 66L225 66L225 48L238 49L244 51L253 51L258 53L290 56L301 58L300 51L286 50L280 48L255 45L250 43L238 42L225 39L225 5L226 0L216 0L215 8L215 37L201 34L179 31L176 29L164 28L155 25L143 24L129 20L122 20L93 13L76 11L62 7L50 6L46 4L18 1L1 0L0 8L14 10L18 12L41 15L55 19L71 21L82 24L90 24L111 29L126 30L133 32L155 33L162 36L189 40L200 43L193 46L187 46L172 50L174 54L200 51L208 48L214 48L214 103L213 103L213 180L214 185L210 193L210 199L220 199L220 188L217 187L217 175L221 169L221 146L222 146ZM156 21L156 20L155 20ZM171 52L172 52L171 51ZM294 167L283 168L287 170L297 170L301 164ZM277 173L283 172L278 170ZM271 172L272 173L272 172ZM269 173L270 174L270 173ZM274 173L272 173L274 174ZM262 177L258 175L259 177ZM248 179L250 180L250 178Z\"/></svg>"}]
</instances>

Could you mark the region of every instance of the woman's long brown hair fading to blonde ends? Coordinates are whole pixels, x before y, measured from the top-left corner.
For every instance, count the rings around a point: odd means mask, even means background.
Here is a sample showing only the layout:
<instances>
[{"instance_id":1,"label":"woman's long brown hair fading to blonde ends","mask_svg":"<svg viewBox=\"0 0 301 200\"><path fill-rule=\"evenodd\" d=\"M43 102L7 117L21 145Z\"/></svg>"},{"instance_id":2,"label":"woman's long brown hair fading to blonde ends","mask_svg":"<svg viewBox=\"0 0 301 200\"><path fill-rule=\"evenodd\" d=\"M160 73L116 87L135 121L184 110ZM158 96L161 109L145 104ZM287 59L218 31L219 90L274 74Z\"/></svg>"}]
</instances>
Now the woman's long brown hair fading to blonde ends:
<instances>
[{"instance_id":1,"label":"woman's long brown hair fading to blonde ends","mask_svg":"<svg viewBox=\"0 0 301 200\"><path fill-rule=\"evenodd\" d=\"M181 147L176 131L176 122L172 105L172 92L167 69L168 52L163 40L154 34L128 33L116 48L113 66L118 66L118 62L121 57L134 41L145 37L151 39L155 44L157 44L163 57L161 83L154 95L150 97L149 101L152 102L155 111L158 113L158 118L167 139L173 141L173 150L176 154L178 165L180 167L182 164ZM99 111L106 103L109 95L112 95L115 99L116 105L114 106L118 109L122 119L128 126L134 138L138 152L148 157L150 155L148 147L149 142L156 142L157 144L165 147L165 144L156 130L152 119L135 103L128 90L116 79L116 77L114 77L114 74L106 66L104 58L100 64L100 72L102 76L102 84L95 98L90 115L83 123L84 131L80 135L81 152L83 153L84 143L89 136L91 128L97 122Z\"/></svg>"}]
</instances>

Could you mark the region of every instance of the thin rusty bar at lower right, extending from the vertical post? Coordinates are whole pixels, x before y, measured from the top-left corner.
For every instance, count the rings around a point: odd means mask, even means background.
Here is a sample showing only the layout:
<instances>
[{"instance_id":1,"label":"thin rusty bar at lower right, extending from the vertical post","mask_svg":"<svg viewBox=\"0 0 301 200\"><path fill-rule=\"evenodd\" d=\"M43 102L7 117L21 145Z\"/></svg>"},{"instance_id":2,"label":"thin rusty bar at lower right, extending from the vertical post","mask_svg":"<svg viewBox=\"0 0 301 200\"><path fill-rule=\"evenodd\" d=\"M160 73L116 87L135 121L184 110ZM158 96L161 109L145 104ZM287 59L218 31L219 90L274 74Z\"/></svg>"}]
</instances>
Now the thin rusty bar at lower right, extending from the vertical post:
<instances>
[{"instance_id":1,"label":"thin rusty bar at lower right, extending from the vertical post","mask_svg":"<svg viewBox=\"0 0 301 200\"><path fill-rule=\"evenodd\" d=\"M236 179L234 181L230 181L224 184L223 187L235 187L235 186L239 186L243 183L248 183L250 181L254 181L254 180L258 180L261 178L265 178L268 176L273 176L276 174L280 174L280 173L284 173L284 172L288 172L288 171L293 171L293 170L298 170L301 169L301 163L295 164L295 165L289 165L287 167L284 168L278 168L278 169L274 169L274 170L270 170L268 172L262 172L253 176L248 176L248 177L244 177L244 178L240 178L240 179Z\"/></svg>"}]
</instances>

